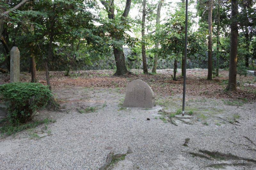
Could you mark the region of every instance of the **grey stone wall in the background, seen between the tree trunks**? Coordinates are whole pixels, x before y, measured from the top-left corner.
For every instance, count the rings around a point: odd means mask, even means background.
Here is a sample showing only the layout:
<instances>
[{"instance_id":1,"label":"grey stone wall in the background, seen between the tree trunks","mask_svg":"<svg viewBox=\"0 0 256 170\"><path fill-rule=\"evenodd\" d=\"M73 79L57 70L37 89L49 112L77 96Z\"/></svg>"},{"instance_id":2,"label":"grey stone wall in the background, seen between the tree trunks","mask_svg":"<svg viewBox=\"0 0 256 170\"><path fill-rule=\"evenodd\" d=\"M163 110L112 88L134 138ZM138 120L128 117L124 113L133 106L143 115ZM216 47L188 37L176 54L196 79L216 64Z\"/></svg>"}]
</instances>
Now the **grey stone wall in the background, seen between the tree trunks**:
<instances>
[{"instance_id":1,"label":"grey stone wall in the background, seen between the tree trunks","mask_svg":"<svg viewBox=\"0 0 256 170\"><path fill-rule=\"evenodd\" d=\"M58 49L60 51L60 49ZM58 50L54 56L55 60L58 61ZM130 69L143 69L141 54L136 55L130 48L123 48L124 56L126 61L126 67L128 70ZM147 66L148 69L152 69L153 67L153 57L147 56ZM216 63L215 57L213 57L214 63ZM223 58L220 59L220 64L223 64L225 60ZM174 60L170 59L158 59L157 69L173 69L174 68ZM215 64L214 64L215 65ZM67 64L58 65L57 62L52 62L49 66L49 70L51 71L64 71L67 68ZM181 68L181 62L178 61L178 68ZM205 59L193 59L187 58L187 68L208 68L208 58ZM116 69L116 62L114 58L114 54L111 56L106 56L104 59L95 61L92 65L83 64L83 61L77 61L73 64L72 70L111 70Z\"/></svg>"}]
</instances>

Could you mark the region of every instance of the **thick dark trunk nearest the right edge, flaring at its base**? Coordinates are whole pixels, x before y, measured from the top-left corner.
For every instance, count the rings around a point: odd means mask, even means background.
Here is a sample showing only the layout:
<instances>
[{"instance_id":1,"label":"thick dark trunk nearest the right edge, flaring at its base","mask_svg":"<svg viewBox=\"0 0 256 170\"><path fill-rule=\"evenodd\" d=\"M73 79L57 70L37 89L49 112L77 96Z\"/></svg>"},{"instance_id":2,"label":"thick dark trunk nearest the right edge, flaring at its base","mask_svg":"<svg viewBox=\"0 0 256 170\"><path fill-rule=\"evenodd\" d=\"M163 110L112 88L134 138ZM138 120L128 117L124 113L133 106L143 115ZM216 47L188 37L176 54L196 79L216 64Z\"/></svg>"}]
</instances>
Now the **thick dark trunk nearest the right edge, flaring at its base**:
<instances>
[{"instance_id":1,"label":"thick dark trunk nearest the right edge, flaring at its base","mask_svg":"<svg viewBox=\"0 0 256 170\"><path fill-rule=\"evenodd\" d=\"M231 0L231 32L230 32L230 59L229 59L229 74L228 87L226 90L236 90L236 64L237 64L237 38L238 38L238 4L237 0Z\"/></svg>"}]
</instances>

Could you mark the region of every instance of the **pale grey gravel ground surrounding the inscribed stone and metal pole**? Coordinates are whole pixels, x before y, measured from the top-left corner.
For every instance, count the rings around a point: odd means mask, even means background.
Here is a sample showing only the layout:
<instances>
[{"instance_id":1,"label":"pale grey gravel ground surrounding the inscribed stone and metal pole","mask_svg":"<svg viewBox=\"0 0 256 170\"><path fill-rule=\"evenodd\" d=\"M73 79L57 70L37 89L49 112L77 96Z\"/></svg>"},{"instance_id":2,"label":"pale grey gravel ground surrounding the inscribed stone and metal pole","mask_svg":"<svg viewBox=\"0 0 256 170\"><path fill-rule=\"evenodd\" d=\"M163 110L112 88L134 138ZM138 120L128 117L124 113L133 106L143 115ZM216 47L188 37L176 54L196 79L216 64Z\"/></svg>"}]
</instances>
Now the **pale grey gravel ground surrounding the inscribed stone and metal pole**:
<instances>
[{"instance_id":1,"label":"pale grey gravel ground surrounding the inscribed stone and metal pole","mask_svg":"<svg viewBox=\"0 0 256 170\"><path fill-rule=\"evenodd\" d=\"M219 99L186 96L185 109L193 110L194 114L192 119L185 121L192 124L173 118L178 125L175 126L160 119L163 115L158 111L175 112L181 108L181 94L156 95L157 105L152 109L143 109L122 108L120 103L124 100L124 92L120 93L118 89L67 87L53 91L55 97L63 101L61 106L66 105L64 111L40 111L36 119L49 116L56 120L48 124L47 129L45 125L40 125L15 137L0 139L0 169L96 170L104 165L110 152L125 154L128 147L132 153L113 165L112 169L256 169L256 163L252 161L235 160L231 156L223 160L199 152L218 151L256 160L254 102L230 106ZM67 100L70 94L76 98ZM106 106L102 108L105 101ZM92 113L78 112L86 106L101 108ZM236 119L237 122L232 124L223 119L233 122ZM33 134L44 137L33 137ZM190 139L188 147L183 145L187 138ZM216 163L223 164L206 167Z\"/></svg>"}]
</instances>

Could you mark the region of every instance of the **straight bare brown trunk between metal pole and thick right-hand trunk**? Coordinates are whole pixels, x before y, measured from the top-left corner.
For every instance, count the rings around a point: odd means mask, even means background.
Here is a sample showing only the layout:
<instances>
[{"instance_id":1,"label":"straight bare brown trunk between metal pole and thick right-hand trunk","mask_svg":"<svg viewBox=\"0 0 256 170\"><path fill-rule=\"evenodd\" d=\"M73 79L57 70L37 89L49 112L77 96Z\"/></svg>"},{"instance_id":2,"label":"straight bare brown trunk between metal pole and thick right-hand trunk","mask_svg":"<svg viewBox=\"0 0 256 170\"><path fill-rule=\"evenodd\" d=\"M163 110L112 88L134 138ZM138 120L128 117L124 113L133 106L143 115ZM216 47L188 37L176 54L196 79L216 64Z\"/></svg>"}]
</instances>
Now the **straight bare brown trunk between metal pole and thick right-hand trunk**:
<instances>
[{"instance_id":1,"label":"straight bare brown trunk between metal pole and thick right-hand trunk","mask_svg":"<svg viewBox=\"0 0 256 170\"><path fill-rule=\"evenodd\" d=\"M207 80L212 80L212 0L209 0L208 13L208 76Z\"/></svg>"}]
</instances>

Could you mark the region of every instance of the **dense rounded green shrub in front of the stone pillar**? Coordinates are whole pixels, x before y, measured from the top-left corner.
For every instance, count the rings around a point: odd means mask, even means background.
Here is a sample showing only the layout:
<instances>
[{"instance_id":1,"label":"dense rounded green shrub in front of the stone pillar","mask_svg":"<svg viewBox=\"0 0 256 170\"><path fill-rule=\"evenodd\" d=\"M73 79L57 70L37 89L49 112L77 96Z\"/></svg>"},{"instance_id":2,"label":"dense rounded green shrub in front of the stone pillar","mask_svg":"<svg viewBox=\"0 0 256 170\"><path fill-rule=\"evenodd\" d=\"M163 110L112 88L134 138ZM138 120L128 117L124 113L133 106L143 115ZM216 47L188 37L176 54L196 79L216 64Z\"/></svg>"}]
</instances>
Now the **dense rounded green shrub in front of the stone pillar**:
<instances>
[{"instance_id":1,"label":"dense rounded green shrub in front of the stone pillar","mask_svg":"<svg viewBox=\"0 0 256 170\"><path fill-rule=\"evenodd\" d=\"M30 121L39 108L44 107L52 98L47 86L40 83L17 82L0 85L0 93L7 100L7 118L13 124Z\"/></svg>"}]
</instances>

